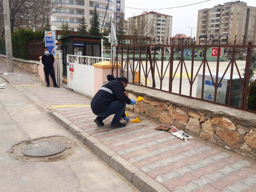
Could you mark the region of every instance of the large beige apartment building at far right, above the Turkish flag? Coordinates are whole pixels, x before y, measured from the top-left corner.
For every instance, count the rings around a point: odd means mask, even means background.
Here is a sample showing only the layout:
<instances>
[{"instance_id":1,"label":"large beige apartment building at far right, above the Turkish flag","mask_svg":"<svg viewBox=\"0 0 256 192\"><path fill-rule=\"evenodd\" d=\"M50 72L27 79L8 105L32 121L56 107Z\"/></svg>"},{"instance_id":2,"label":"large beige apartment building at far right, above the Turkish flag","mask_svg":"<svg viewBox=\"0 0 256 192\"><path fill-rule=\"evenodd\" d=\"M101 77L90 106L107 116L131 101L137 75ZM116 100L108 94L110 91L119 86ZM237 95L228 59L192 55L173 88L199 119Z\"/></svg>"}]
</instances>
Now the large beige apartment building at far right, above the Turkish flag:
<instances>
[{"instance_id":1,"label":"large beige apartment building at far right, above the Turkish flag","mask_svg":"<svg viewBox=\"0 0 256 192\"><path fill-rule=\"evenodd\" d=\"M221 42L233 44L235 36L236 44L243 43L245 36L246 41L256 38L256 7L247 6L246 2L231 1L219 4L210 9L198 11L197 37L200 37L201 45L204 45L214 37L214 42L218 42L221 36ZM199 38L196 41L199 44Z\"/></svg>"}]
</instances>

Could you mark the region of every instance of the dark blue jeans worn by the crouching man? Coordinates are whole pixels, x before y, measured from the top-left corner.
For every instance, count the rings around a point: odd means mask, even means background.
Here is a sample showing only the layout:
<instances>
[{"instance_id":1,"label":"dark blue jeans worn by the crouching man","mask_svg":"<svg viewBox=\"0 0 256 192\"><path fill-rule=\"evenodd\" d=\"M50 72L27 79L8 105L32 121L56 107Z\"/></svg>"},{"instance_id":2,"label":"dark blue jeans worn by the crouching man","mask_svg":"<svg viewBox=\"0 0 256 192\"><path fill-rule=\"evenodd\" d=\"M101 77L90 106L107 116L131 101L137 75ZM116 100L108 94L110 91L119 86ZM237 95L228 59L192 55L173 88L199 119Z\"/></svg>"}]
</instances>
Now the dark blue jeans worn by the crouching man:
<instances>
[{"instance_id":1,"label":"dark blue jeans worn by the crouching man","mask_svg":"<svg viewBox=\"0 0 256 192\"><path fill-rule=\"evenodd\" d=\"M100 113L97 115L98 117L101 118L103 121L106 119L108 116L115 114L115 116L112 119L113 123L117 123L120 121L122 114L125 111L126 103L122 101L112 101L108 110L106 112Z\"/></svg>"}]
</instances>

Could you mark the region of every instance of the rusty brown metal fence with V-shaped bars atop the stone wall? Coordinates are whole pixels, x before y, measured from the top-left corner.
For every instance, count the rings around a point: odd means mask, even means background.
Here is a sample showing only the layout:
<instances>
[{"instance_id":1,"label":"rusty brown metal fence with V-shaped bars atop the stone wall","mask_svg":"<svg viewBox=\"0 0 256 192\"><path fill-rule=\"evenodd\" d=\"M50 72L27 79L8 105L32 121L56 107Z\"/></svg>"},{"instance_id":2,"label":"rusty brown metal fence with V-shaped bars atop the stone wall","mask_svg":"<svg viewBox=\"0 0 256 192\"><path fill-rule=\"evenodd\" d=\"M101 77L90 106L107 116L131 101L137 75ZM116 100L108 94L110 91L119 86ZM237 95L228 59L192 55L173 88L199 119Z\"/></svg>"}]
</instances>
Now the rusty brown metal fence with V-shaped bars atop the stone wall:
<instances>
[{"instance_id":1,"label":"rusty brown metal fence with V-shaped bars atop the stone wall","mask_svg":"<svg viewBox=\"0 0 256 192\"><path fill-rule=\"evenodd\" d=\"M205 45L189 45L189 40L186 43L182 43L182 45L174 45L173 39L170 39L171 43L168 43L168 39L166 39L166 43L162 39L162 44L160 43L160 39L158 39L157 43L155 40L153 44L150 44L150 42L144 41L145 44L140 44L140 40L130 40L125 45L118 45L116 49L116 61L113 68L117 68L117 63L119 62L121 64L121 72L120 74L117 72L116 76L126 76L128 80L130 79L129 83L138 86L146 86L150 89L157 89L183 97L256 113L256 111L249 110L246 107L248 93L256 82L255 75L250 76L252 51L256 48L256 45L252 45L252 42L244 45L244 41L243 45L236 45L235 40L230 45L228 40L225 44L222 44L220 38L218 45L214 43L216 40L210 41L210 44L207 44L206 41ZM160 47L162 50L166 50L167 48L170 52L168 51L169 53L167 54L162 51L160 59L157 60L156 50L159 50ZM215 54L217 53L215 57L216 61L210 62L210 60L213 60L212 57L209 57L210 48L213 47L216 50ZM189 59L184 54L188 48L192 53ZM204 52L204 55L201 55L201 61L196 61L196 57L198 56L195 55L196 49ZM231 58L230 60L227 59L227 62L221 62L223 58L223 55L221 55L223 52L221 53L221 51L223 49L228 50L231 54ZM181 51L177 52L177 50ZM242 53L246 51L246 60L240 61L243 63L238 63L239 61L235 60L235 53L237 51L241 51ZM200 81L198 81L199 74ZM228 80L226 80L227 76L229 76ZM236 92L236 88L233 86L233 77L235 76L238 80L236 86L238 85L238 88L241 88L239 93ZM207 81L206 77L208 77ZM223 103L219 100L222 97L220 91L224 81L228 81L230 86L228 85L226 87L226 102ZM252 83L249 83L250 81ZM199 82L201 83L199 84ZM205 93L205 86L209 84L211 85L211 97ZM195 90L197 92L200 90L199 96L198 94L195 95ZM238 102L238 105L234 105L231 101L237 95L239 95L237 99L240 102Z\"/></svg>"}]
</instances>

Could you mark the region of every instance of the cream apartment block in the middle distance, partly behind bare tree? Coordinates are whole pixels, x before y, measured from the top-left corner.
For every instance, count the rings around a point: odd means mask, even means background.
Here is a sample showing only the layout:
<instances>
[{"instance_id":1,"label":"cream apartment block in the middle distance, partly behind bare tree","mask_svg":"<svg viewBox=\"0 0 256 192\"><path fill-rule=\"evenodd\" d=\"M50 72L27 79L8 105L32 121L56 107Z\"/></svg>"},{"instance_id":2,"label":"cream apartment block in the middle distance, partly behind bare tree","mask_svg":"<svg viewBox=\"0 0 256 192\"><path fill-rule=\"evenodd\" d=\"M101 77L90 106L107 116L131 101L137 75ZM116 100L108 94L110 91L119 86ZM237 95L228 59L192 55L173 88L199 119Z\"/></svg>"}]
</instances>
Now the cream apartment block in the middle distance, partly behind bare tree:
<instances>
[{"instance_id":1,"label":"cream apartment block in the middle distance, partly behind bare tree","mask_svg":"<svg viewBox=\"0 0 256 192\"><path fill-rule=\"evenodd\" d=\"M153 38L170 38L172 35L172 16L164 15L154 11L144 11L141 15L128 18L128 27L134 22L134 26L138 27L143 21L150 25L151 33L149 36Z\"/></svg>"}]
</instances>

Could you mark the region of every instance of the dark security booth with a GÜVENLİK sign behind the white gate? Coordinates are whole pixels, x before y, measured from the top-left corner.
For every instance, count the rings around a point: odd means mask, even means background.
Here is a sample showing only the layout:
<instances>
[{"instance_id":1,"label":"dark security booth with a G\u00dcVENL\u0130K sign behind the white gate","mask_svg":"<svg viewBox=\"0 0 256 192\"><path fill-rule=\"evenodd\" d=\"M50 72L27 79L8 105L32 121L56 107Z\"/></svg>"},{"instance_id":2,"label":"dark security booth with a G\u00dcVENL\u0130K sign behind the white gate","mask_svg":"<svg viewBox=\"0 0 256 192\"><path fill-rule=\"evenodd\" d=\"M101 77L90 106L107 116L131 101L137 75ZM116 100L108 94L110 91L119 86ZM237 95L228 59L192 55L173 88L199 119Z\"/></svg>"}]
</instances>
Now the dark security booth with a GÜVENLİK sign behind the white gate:
<instances>
[{"instance_id":1,"label":"dark security booth with a G\u00dcVENL\u0130K sign behind the white gate","mask_svg":"<svg viewBox=\"0 0 256 192\"><path fill-rule=\"evenodd\" d=\"M67 76L67 55L101 57L101 36L69 34L61 37L63 76Z\"/></svg>"}]
</instances>

